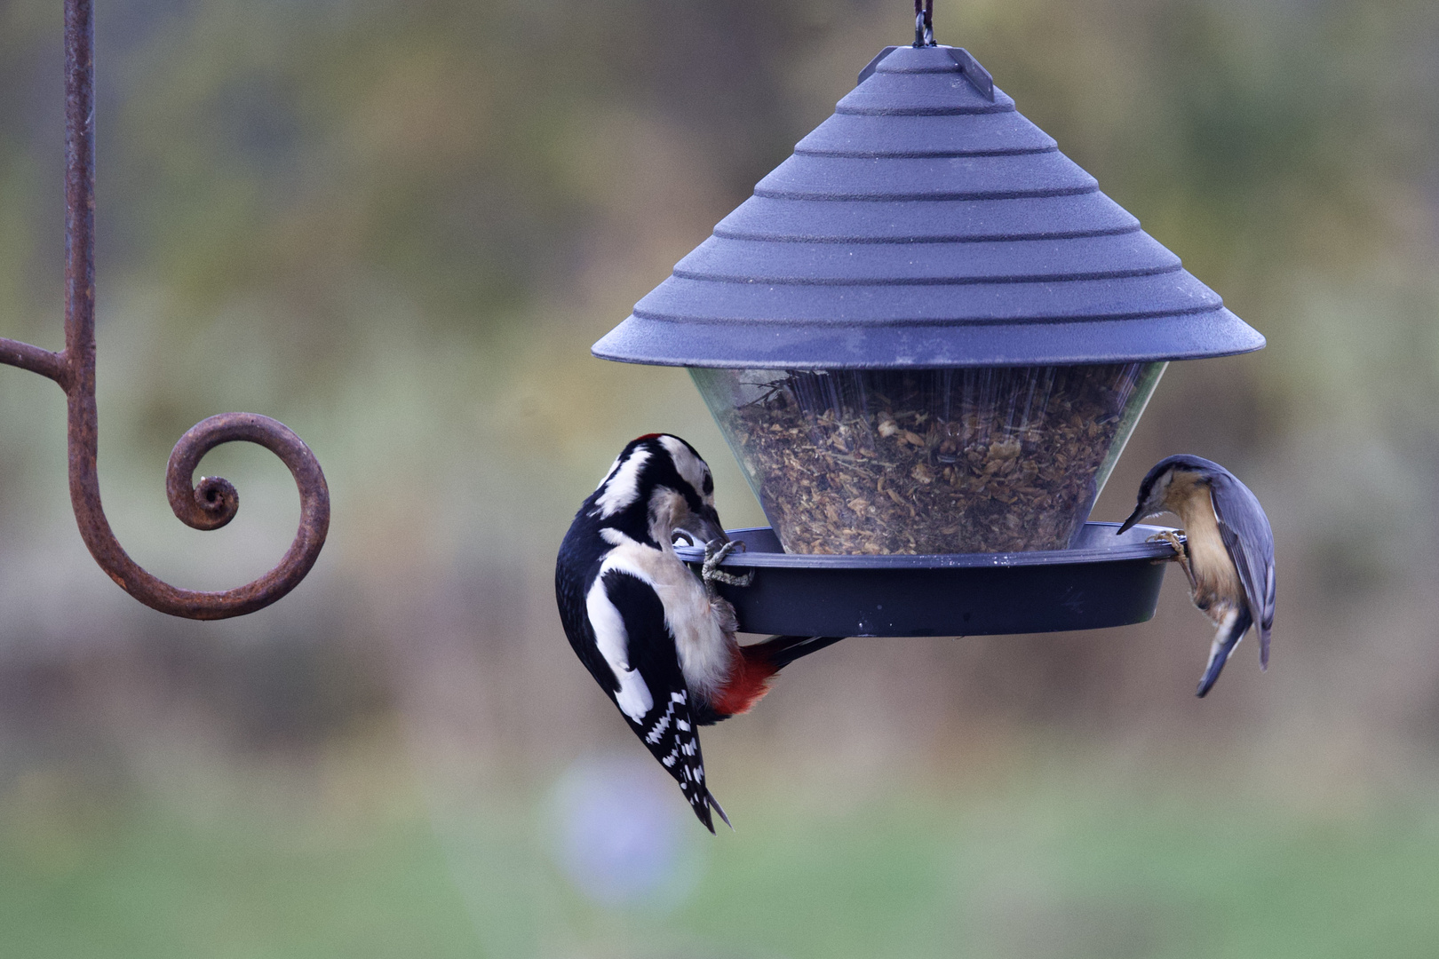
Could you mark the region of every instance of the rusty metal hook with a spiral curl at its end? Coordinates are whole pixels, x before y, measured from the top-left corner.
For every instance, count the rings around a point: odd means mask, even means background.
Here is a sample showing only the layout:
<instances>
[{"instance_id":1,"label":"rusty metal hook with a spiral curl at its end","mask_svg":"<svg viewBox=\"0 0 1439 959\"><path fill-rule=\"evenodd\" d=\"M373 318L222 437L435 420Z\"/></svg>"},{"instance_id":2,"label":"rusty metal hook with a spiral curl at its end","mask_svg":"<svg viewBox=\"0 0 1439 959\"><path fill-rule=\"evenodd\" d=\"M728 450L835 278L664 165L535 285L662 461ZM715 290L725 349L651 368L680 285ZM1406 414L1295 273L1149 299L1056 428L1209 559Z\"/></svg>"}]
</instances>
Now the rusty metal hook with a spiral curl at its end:
<instances>
[{"instance_id":1,"label":"rusty metal hook with a spiral curl at its end","mask_svg":"<svg viewBox=\"0 0 1439 959\"><path fill-rule=\"evenodd\" d=\"M191 620L223 620L268 607L315 565L330 529L330 487L319 462L283 423L253 413L201 420L176 444L165 492L176 516L196 529L219 529L235 518L239 495L229 480L206 476L200 459L222 443L245 440L275 453L299 487L299 531L279 565L236 589L178 589L131 559L115 539L99 502L95 407L95 24L92 0L65 0L65 349L50 352L0 338L0 364L49 377L69 397L71 503L81 536L109 578L141 602Z\"/></svg>"}]
</instances>

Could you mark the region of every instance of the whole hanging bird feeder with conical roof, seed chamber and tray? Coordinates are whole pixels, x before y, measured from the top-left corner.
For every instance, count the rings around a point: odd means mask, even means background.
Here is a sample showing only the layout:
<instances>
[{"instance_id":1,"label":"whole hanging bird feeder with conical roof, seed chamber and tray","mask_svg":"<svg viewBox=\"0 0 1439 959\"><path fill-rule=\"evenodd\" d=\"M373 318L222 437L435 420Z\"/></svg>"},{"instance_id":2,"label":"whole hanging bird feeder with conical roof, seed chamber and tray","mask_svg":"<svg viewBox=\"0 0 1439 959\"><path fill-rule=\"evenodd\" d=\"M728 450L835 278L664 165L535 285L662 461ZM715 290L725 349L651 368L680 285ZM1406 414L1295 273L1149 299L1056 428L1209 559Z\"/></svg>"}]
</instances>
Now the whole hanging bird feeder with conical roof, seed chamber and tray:
<instances>
[{"instance_id":1,"label":"whole hanging bird feeder with conical roof, seed chamber and tray","mask_svg":"<svg viewBox=\"0 0 1439 959\"><path fill-rule=\"evenodd\" d=\"M686 367L740 459L773 528L730 561L761 574L727 591L744 628L1147 620L1170 546L1085 520L1167 362L1263 336L974 58L920 43L879 53L593 352Z\"/></svg>"}]
</instances>

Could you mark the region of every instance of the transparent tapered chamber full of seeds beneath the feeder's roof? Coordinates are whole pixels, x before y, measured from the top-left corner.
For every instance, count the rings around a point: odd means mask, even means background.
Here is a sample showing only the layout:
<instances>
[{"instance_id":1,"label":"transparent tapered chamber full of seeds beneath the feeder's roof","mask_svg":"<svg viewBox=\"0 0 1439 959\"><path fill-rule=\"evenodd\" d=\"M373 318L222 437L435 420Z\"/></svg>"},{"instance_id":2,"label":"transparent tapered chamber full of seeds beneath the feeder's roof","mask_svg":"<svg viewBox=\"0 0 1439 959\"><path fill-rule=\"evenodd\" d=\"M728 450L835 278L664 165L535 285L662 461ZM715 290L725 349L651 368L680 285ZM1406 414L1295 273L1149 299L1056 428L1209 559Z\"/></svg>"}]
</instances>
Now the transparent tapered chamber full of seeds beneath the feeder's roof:
<instances>
[{"instance_id":1,"label":"transparent tapered chamber full of seeds beneath the feeder's roof","mask_svg":"<svg viewBox=\"0 0 1439 959\"><path fill-rule=\"evenodd\" d=\"M1065 549L1166 362L691 368L791 554Z\"/></svg>"}]
</instances>

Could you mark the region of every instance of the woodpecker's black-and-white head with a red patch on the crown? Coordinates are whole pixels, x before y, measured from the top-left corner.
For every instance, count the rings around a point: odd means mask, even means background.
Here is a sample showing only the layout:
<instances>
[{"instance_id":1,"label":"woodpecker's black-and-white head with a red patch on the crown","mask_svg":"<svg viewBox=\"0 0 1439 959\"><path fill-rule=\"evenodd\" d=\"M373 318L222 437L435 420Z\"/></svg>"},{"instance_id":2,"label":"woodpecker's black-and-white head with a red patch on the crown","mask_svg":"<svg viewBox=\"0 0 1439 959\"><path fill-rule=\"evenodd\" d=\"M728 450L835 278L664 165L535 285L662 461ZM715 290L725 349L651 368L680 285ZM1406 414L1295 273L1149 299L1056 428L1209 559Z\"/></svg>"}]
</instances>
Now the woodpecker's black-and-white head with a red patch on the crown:
<instances>
[{"instance_id":1,"label":"woodpecker's black-and-white head with a red patch on the crown","mask_svg":"<svg viewBox=\"0 0 1439 959\"><path fill-rule=\"evenodd\" d=\"M728 541L715 512L709 466L695 447L668 433L630 441L586 506L604 526L662 549L676 531L698 542Z\"/></svg>"}]
</instances>

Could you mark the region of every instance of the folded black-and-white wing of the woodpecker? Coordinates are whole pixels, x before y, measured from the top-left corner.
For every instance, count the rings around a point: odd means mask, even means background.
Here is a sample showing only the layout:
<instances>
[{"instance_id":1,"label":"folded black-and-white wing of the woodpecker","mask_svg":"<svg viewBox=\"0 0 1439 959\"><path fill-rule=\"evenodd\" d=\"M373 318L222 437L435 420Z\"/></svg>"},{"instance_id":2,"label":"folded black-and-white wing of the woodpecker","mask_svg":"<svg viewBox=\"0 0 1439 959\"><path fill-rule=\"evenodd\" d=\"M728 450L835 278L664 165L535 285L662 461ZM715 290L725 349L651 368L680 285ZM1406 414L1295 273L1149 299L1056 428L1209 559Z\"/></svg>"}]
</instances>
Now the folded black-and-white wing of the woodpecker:
<instances>
[{"instance_id":1,"label":"folded black-and-white wing of the woodpecker","mask_svg":"<svg viewBox=\"0 0 1439 959\"><path fill-rule=\"evenodd\" d=\"M730 817L705 785L695 703L655 588L633 574L609 569L591 587L587 605L596 646L612 670L610 699L679 784L705 828L715 830L711 808L728 825Z\"/></svg>"}]
</instances>

